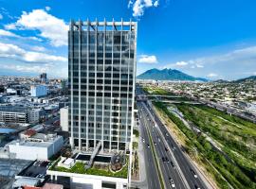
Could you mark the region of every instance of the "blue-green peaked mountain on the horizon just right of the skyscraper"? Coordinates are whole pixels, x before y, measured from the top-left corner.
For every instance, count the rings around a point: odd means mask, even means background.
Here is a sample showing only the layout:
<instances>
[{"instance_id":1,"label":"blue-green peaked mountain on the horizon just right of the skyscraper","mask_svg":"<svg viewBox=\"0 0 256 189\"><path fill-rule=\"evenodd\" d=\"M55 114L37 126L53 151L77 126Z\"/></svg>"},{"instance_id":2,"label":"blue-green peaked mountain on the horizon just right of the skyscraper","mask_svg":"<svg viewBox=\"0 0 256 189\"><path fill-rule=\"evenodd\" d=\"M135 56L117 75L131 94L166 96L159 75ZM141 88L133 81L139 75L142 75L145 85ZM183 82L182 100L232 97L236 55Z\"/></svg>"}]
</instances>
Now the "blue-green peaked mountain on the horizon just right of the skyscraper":
<instances>
[{"instance_id":1,"label":"blue-green peaked mountain on the horizon just right of the skyscraper","mask_svg":"<svg viewBox=\"0 0 256 189\"><path fill-rule=\"evenodd\" d=\"M188 80L188 81L208 81L206 78L192 77L178 70L172 69L151 69L137 76L137 79L154 79L154 80Z\"/></svg>"}]
</instances>

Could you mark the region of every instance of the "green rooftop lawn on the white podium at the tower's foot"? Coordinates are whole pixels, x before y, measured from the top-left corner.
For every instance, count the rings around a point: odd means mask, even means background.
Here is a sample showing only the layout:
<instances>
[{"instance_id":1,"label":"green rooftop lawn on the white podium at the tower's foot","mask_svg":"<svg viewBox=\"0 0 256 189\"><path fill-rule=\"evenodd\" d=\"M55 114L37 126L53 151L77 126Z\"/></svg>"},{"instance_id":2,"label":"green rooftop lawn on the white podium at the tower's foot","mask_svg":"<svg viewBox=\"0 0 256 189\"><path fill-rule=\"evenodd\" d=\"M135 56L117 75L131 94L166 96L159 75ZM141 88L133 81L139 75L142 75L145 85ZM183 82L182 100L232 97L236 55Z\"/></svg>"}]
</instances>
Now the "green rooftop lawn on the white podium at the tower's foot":
<instances>
[{"instance_id":1,"label":"green rooftop lawn on the white podium at the tower's foot","mask_svg":"<svg viewBox=\"0 0 256 189\"><path fill-rule=\"evenodd\" d=\"M128 160L126 160L128 161ZM108 165L94 165L92 168L87 170L84 169L84 163L75 163L70 169L64 168L61 166L53 165L50 170L53 171L62 171L62 172L69 172L69 173L78 173L78 174L87 174L87 175L99 175L105 177L117 177L117 178L124 178L128 177L128 163L118 172L112 172L109 169Z\"/></svg>"}]
</instances>

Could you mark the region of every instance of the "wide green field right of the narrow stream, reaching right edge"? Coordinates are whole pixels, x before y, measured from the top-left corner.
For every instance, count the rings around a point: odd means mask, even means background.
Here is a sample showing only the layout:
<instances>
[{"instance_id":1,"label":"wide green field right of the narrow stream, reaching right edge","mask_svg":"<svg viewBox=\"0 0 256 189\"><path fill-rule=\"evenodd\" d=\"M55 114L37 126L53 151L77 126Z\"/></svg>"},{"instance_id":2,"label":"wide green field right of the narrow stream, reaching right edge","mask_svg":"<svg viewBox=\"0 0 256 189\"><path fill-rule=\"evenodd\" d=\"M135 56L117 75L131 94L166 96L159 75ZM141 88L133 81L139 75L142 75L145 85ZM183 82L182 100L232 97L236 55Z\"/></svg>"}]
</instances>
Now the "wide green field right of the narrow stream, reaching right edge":
<instances>
[{"instance_id":1,"label":"wide green field right of the narrow stream, reaching right edge","mask_svg":"<svg viewBox=\"0 0 256 189\"><path fill-rule=\"evenodd\" d=\"M229 158L256 181L256 125L207 106L178 105L186 119L208 133L223 147Z\"/></svg>"}]
</instances>

